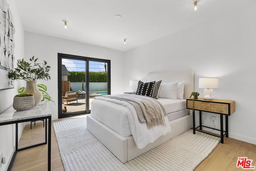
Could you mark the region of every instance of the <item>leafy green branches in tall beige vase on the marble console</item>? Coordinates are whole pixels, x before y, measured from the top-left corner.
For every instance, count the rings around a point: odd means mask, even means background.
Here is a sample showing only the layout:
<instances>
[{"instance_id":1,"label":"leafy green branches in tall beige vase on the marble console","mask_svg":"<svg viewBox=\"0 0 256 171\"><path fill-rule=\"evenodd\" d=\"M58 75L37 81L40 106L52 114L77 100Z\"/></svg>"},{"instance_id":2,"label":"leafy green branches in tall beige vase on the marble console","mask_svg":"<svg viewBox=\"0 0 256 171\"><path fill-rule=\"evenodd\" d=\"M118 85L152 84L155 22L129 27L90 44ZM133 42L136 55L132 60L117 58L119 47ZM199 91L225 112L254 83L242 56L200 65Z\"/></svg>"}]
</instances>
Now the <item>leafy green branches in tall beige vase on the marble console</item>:
<instances>
[{"instance_id":1,"label":"leafy green branches in tall beige vase on the marble console","mask_svg":"<svg viewBox=\"0 0 256 171\"><path fill-rule=\"evenodd\" d=\"M13 80L25 80L26 89L24 93L31 93L34 95L35 105L37 105L43 98L43 94L36 88L37 80L50 80L50 66L47 66L47 62L37 63L38 58L29 59L30 62L26 62L24 59L18 60L17 68L14 68L12 72L8 73L8 77Z\"/></svg>"}]
</instances>

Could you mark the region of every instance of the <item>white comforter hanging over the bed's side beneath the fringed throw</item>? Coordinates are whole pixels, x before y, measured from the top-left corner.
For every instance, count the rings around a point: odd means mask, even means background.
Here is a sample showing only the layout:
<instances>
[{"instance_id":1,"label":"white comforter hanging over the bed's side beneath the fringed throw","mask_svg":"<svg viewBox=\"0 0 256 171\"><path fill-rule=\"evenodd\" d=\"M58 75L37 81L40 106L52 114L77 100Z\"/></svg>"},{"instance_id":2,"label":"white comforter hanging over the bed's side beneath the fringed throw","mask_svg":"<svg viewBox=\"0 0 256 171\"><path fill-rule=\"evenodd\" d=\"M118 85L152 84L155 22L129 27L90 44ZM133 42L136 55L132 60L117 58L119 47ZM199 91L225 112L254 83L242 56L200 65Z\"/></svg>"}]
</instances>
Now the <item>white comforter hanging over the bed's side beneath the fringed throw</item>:
<instances>
[{"instance_id":1,"label":"white comforter hanging over the bed's side beneath the fringed throw","mask_svg":"<svg viewBox=\"0 0 256 171\"><path fill-rule=\"evenodd\" d=\"M120 101L117 99L111 99L111 98L105 98L105 97L97 97L96 99L94 99L94 101L92 101L92 109L91 109L92 117L94 112L93 104L97 103L96 102L97 100L117 103L127 107L130 110L130 113L126 113L126 116L128 118L132 136L139 149L144 148L146 145L148 145L148 143L154 142L160 136L166 135L166 133L169 133L171 131L171 127L170 127L167 116L164 117L165 125L158 125L158 126L152 127L151 129L148 129L146 123L139 122L136 110L130 103L126 101ZM102 113L102 114L106 114L106 113Z\"/></svg>"}]
</instances>

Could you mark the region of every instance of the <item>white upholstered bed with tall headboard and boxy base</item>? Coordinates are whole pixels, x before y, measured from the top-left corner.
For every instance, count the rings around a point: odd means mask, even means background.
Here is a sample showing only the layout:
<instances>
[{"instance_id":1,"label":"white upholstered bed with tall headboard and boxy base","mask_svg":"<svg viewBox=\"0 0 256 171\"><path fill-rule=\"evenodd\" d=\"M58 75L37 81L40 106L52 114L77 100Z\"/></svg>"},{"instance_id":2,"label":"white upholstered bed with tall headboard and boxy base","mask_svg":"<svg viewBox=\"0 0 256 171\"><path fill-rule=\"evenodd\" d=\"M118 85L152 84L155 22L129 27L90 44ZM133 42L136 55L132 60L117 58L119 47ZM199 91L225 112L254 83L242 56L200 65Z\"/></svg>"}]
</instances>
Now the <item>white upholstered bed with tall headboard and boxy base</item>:
<instances>
[{"instance_id":1,"label":"white upholstered bed with tall headboard and boxy base","mask_svg":"<svg viewBox=\"0 0 256 171\"><path fill-rule=\"evenodd\" d=\"M157 99L164 105L166 113L168 113L166 117L171 131L166 135L160 136L143 148L138 148L137 141L134 140L135 137L131 135L129 123L124 121L127 120L127 117L123 113L129 112L129 110L127 107L111 101L94 100L91 115L87 117L87 129L122 163L138 157L193 127L192 115L187 115L185 99L189 98L190 93L194 91L194 71L151 73L147 75L146 79L146 82L162 80L162 84L184 81L184 99L174 101L167 98Z\"/></svg>"}]
</instances>

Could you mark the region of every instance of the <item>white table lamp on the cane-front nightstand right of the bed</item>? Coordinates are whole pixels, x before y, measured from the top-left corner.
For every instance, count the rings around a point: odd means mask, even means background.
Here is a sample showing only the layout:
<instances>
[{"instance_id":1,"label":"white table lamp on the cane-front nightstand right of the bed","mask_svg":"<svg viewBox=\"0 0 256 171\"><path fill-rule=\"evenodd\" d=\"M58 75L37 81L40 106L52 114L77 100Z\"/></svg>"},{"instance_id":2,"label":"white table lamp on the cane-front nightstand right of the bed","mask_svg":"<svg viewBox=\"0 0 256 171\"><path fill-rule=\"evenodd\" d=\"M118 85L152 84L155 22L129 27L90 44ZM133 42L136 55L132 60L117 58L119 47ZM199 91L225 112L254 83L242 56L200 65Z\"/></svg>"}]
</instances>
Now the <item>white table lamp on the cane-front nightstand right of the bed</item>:
<instances>
[{"instance_id":1,"label":"white table lamp on the cane-front nightstand right of the bed","mask_svg":"<svg viewBox=\"0 0 256 171\"><path fill-rule=\"evenodd\" d=\"M213 89L218 89L219 79L218 78L199 78L198 88L204 88L204 99L212 100Z\"/></svg>"}]
</instances>

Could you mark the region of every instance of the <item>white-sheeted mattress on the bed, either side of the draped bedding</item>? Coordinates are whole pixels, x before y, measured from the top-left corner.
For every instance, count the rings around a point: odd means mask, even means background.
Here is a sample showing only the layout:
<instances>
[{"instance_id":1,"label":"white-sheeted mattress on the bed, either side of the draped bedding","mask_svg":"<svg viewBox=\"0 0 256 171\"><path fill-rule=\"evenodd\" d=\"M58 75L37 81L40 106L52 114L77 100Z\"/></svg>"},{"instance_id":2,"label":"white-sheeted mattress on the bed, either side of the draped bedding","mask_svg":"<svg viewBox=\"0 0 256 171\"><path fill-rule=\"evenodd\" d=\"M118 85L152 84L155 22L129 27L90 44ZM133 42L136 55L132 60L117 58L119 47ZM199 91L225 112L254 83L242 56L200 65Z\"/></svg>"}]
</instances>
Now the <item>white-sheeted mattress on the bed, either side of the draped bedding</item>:
<instances>
[{"instance_id":1,"label":"white-sheeted mattress on the bed, either side of the draped bedding","mask_svg":"<svg viewBox=\"0 0 256 171\"><path fill-rule=\"evenodd\" d=\"M159 98L158 101L164 105L169 121L187 115L186 100L184 99ZM92 101L92 117L124 137L132 135L127 118L127 113L130 112L127 107L116 103L103 100Z\"/></svg>"}]
</instances>

